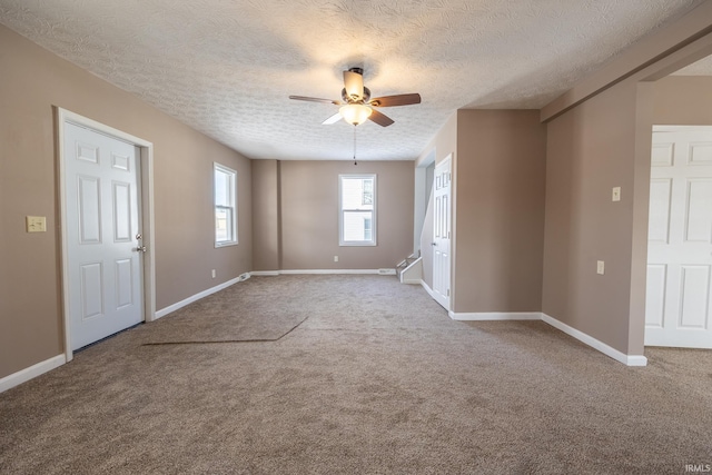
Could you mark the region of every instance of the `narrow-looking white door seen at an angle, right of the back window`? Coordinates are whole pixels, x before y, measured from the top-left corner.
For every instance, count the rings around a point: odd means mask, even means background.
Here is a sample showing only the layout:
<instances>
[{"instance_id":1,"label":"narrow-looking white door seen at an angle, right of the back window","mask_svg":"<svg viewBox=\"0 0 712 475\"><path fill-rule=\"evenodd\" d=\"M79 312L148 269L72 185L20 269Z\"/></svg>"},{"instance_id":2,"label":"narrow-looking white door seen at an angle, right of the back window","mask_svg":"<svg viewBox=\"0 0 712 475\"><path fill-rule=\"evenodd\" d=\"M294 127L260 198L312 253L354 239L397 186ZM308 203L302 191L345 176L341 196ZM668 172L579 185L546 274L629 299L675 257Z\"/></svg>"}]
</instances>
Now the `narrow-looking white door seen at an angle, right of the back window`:
<instances>
[{"instance_id":1,"label":"narrow-looking white door seen at an angle, right of the back window","mask_svg":"<svg viewBox=\"0 0 712 475\"><path fill-rule=\"evenodd\" d=\"M449 310L451 156L435 167L433 184L433 294Z\"/></svg>"}]
</instances>

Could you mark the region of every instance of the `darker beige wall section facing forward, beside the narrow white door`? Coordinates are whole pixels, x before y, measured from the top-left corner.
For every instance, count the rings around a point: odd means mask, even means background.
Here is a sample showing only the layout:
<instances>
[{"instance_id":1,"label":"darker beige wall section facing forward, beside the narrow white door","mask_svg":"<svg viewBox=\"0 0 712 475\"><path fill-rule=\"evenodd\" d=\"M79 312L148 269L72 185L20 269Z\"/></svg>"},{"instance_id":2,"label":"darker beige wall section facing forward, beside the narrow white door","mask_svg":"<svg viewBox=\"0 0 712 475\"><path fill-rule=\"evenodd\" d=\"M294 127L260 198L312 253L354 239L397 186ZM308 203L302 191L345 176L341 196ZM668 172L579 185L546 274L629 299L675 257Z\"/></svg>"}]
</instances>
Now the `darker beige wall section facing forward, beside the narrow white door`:
<instances>
[{"instance_id":1,"label":"darker beige wall section facing forward, beside the narrow white door","mask_svg":"<svg viewBox=\"0 0 712 475\"><path fill-rule=\"evenodd\" d=\"M541 311L545 160L537 110L457 112L454 311Z\"/></svg>"}]
</instances>

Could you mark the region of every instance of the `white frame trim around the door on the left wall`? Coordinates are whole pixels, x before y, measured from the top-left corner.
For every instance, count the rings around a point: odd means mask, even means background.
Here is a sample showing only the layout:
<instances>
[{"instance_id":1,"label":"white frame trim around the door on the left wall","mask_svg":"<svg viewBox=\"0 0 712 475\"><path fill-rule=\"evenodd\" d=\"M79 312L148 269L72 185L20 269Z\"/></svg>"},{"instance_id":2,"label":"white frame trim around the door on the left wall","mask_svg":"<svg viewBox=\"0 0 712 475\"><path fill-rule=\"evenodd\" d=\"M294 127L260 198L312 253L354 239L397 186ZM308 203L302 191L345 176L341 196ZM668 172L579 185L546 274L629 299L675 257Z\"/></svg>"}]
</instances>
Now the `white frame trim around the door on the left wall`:
<instances>
[{"instance_id":1,"label":"white frame trim around the door on the left wall","mask_svg":"<svg viewBox=\"0 0 712 475\"><path fill-rule=\"evenodd\" d=\"M67 362L73 358L71 349L71 318L69 311L69 244L67 239L67 180L66 180L66 157L65 157L65 122L72 122L78 126L88 127L99 133L103 133L139 148L139 162L141 172L141 234L144 243L148 247L148 253L144 254L144 318L146 321L156 319L156 254L154 253L154 144L135 137L130 133L117 130L112 127L97 122L96 120L55 107L57 123L57 158L59 171L59 222L61 236L61 288L62 288L62 319L65 327L65 357Z\"/></svg>"}]
</instances>

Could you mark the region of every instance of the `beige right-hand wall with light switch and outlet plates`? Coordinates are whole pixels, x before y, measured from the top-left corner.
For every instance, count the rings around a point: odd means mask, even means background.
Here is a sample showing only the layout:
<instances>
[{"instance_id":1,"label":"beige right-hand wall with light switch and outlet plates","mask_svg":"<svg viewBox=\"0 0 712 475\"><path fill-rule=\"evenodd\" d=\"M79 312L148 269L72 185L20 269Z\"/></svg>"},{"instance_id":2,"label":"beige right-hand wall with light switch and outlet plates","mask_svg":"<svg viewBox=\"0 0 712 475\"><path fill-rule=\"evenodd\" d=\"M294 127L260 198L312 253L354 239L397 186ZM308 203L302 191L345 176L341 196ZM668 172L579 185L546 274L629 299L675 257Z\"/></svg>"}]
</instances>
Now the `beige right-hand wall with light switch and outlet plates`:
<instances>
[{"instance_id":1,"label":"beige right-hand wall with light switch and outlet plates","mask_svg":"<svg viewBox=\"0 0 712 475\"><path fill-rule=\"evenodd\" d=\"M543 311L640 355L629 340L636 93L624 81L548 122Z\"/></svg>"}]
</instances>

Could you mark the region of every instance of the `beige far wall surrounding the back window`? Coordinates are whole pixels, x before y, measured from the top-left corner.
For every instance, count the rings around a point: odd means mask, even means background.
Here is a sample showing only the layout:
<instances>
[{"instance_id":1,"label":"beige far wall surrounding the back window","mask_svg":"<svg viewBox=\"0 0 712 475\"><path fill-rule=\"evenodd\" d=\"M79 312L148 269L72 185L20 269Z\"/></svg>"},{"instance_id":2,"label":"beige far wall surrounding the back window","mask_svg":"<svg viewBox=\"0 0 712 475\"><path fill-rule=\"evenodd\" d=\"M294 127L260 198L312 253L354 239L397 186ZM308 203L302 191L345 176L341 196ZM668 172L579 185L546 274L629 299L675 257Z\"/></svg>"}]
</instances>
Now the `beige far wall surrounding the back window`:
<instances>
[{"instance_id":1,"label":"beige far wall surrounding the back window","mask_svg":"<svg viewBox=\"0 0 712 475\"><path fill-rule=\"evenodd\" d=\"M360 161L358 166L318 160L253 164L256 270L395 268L411 254L411 161ZM376 174L377 246L338 245L340 174ZM334 256L338 256L338 263Z\"/></svg>"}]
</instances>

